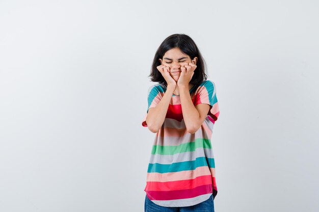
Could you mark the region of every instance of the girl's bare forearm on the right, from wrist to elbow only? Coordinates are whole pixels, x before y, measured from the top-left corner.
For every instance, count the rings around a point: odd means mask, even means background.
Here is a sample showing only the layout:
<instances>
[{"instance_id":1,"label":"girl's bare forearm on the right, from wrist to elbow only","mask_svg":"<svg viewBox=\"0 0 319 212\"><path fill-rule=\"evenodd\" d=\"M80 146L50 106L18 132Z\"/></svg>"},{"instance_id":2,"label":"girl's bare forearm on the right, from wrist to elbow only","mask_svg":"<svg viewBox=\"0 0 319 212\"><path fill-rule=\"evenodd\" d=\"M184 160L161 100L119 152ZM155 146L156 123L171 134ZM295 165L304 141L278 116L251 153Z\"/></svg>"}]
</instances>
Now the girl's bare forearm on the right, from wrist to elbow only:
<instances>
[{"instance_id":1,"label":"girl's bare forearm on the right, from wrist to elbow only","mask_svg":"<svg viewBox=\"0 0 319 212\"><path fill-rule=\"evenodd\" d=\"M194 133L199 128L200 115L192 102L188 87L179 87L179 96L186 129Z\"/></svg>"}]
</instances>

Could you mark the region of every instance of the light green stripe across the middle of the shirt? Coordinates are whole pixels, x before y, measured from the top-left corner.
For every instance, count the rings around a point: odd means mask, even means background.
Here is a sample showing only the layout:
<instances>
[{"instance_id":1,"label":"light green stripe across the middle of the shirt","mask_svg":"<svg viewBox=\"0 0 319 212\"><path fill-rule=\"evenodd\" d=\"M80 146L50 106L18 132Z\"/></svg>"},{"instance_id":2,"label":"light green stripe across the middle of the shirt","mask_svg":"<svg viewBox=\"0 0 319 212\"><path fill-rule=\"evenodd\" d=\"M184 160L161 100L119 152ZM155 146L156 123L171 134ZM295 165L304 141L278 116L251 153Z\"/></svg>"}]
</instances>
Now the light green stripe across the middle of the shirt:
<instances>
[{"instance_id":1,"label":"light green stripe across the middle of the shirt","mask_svg":"<svg viewBox=\"0 0 319 212\"><path fill-rule=\"evenodd\" d=\"M177 146L153 145L151 154L174 155L177 153L193 152L198 147L211 148L210 140L197 138L195 139L195 142L182 143Z\"/></svg>"}]
</instances>

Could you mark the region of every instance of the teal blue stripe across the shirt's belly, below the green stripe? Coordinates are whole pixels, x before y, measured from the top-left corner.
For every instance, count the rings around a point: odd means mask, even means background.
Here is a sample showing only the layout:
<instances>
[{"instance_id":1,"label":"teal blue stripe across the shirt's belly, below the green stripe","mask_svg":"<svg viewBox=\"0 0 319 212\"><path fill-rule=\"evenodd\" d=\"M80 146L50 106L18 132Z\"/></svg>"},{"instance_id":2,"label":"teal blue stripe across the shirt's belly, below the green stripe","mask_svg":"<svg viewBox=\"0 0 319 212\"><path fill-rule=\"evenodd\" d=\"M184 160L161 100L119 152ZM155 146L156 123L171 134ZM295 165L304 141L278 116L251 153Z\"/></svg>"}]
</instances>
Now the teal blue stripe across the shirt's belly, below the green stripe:
<instances>
[{"instance_id":1,"label":"teal blue stripe across the shirt's belly, below the green stripe","mask_svg":"<svg viewBox=\"0 0 319 212\"><path fill-rule=\"evenodd\" d=\"M168 173L175 171L188 171L194 170L197 167L208 166L210 168L215 168L215 159L214 158L205 158L199 157L195 161L184 161L172 164L159 164L159 163L150 163L148 164L147 172L158 172L158 173Z\"/></svg>"}]
</instances>

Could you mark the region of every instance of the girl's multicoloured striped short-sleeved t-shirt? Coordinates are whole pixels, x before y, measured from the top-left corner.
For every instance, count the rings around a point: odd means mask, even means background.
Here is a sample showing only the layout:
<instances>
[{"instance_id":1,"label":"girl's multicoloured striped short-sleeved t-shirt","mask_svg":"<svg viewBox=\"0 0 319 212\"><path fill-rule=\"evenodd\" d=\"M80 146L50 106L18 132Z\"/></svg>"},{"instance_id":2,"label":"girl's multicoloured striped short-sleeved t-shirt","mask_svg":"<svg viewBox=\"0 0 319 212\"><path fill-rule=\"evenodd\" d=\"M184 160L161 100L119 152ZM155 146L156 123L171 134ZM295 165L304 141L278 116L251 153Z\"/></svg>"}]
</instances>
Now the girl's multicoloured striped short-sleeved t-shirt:
<instances>
[{"instance_id":1,"label":"girl's multicoloured striped short-sleeved t-shirt","mask_svg":"<svg viewBox=\"0 0 319 212\"><path fill-rule=\"evenodd\" d=\"M166 92L164 83L148 89L148 108L155 107ZM202 126L187 132L180 97L172 95L164 123L156 133L147 170L147 197L157 205L183 207L198 204L217 195L215 161L211 134L219 116L215 83L205 80L193 86L190 95L194 106L210 105ZM147 127L146 115L142 126Z\"/></svg>"}]
</instances>

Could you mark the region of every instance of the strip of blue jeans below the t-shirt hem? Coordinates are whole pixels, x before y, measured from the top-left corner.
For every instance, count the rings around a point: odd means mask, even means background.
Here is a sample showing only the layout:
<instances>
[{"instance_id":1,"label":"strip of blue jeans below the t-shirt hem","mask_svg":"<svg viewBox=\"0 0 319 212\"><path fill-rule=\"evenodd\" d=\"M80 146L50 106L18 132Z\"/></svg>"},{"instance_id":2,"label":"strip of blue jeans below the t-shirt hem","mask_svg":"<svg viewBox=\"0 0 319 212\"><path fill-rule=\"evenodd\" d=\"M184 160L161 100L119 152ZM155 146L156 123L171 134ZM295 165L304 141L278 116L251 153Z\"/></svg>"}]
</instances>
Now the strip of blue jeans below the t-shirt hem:
<instances>
[{"instance_id":1,"label":"strip of blue jeans below the t-shirt hem","mask_svg":"<svg viewBox=\"0 0 319 212\"><path fill-rule=\"evenodd\" d=\"M146 195L145 195L146 196ZM198 203L196 205L187 207L164 207L155 204L147 196L145 197L145 212L214 212L214 199L212 195L206 201Z\"/></svg>"}]
</instances>

